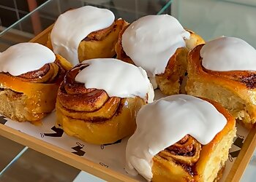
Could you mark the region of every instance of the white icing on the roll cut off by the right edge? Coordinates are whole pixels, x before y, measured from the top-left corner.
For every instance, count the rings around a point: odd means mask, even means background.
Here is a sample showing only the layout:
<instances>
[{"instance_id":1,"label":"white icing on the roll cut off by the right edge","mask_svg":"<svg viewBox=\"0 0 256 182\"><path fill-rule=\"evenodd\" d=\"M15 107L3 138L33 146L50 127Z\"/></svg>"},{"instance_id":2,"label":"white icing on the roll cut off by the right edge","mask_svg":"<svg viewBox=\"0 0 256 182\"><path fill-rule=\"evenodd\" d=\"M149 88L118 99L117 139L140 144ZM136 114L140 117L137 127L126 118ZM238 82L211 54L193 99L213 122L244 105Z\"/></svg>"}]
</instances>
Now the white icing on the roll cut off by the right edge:
<instances>
[{"instance_id":1,"label":"white icing on the roll cut off by the right edge","mask_svg":"<svg viewBox=\"0 0 256 182\"><path fill-rule=\"evenodd\" d=\"M256 71L256 50L236 37L208 41L200 50L204 68L212 71Z\"/></svg>"}]
</instances>

